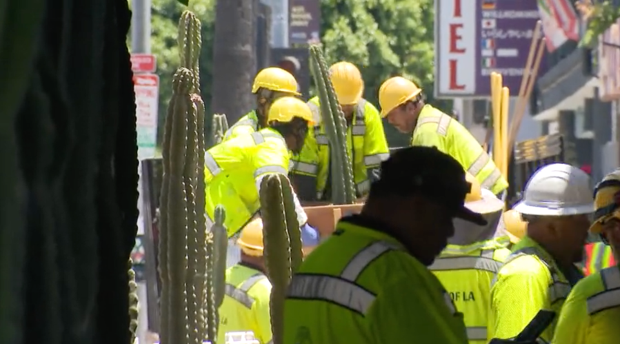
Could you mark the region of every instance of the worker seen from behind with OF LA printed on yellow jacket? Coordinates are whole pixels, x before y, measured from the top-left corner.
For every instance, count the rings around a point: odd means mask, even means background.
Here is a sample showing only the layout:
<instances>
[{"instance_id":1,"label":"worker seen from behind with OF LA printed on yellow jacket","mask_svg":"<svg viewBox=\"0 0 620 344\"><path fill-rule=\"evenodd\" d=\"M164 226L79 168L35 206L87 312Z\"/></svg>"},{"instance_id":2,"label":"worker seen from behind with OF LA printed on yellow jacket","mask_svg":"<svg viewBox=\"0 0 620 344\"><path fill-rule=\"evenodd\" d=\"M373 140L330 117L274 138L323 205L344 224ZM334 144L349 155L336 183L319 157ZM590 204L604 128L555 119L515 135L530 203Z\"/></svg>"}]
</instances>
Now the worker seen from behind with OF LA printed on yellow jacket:
<instances>
[{"instance_id":1,"label":"worker seen from behind with OF LA printed on yellow jacket","mask_svg":"<svg viewBox=\"0 0 620 344\"><path fill-rule=\"evenodd\" d=\"M454 236L428 267L446 287L457 310L463 313L469 343L486 344L490 285L502 262L510 255L508 236L497 237L503 202L480 188L476 177L466 174L472 188L465 207L483 214L487 225L454 219Z\"/></svg>"}]
</instances>

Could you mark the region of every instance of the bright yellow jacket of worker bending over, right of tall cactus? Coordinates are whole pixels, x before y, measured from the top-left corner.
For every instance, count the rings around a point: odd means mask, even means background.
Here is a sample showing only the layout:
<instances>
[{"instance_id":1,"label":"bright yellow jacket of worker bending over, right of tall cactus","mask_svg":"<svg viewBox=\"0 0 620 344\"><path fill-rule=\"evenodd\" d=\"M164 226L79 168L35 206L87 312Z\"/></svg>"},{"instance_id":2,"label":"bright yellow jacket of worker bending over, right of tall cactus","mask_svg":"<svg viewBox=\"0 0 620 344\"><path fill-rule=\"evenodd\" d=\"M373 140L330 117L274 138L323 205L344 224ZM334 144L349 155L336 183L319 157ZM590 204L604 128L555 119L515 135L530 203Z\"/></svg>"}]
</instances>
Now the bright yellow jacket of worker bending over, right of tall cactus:
<instances>
[{"instance_id":1,"label":"bright yellow jacket of worker bending over, right of tall cactus","mask_svg":"<svg viewBox=\"0 0 620 344\"><path fill-rule=\"evenodd\" d=\"M266 128L215 145L205 153L206 212L212 221L217 205L226 209L226 229L233 236L260 208L257 181L269 173L288 173L289 152L279 132Z\"/></svg>"}]
</instances>

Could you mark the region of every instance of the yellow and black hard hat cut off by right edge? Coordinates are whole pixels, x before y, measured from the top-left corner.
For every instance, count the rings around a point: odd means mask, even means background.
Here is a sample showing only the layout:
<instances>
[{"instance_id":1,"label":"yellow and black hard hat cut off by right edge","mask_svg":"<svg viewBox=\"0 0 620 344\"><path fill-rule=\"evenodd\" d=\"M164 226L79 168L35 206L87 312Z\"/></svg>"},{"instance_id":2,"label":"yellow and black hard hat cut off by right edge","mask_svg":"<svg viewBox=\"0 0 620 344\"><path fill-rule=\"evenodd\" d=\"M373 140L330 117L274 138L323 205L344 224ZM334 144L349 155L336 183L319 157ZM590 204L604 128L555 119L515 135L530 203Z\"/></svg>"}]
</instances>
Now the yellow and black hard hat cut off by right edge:
<instances>
[{"instance_id":1,"label":"yellow and black hard hat cut off by right edge","mask_svg":"<svg viewBox=\"0 0 620 344\"><path fill-rule=\"evenodd\" d=\"M593 234L601 233L602 223L620 219L620 170L615 170L594 188L594 222L590 226Z\"/></svg>"}]
</instances>

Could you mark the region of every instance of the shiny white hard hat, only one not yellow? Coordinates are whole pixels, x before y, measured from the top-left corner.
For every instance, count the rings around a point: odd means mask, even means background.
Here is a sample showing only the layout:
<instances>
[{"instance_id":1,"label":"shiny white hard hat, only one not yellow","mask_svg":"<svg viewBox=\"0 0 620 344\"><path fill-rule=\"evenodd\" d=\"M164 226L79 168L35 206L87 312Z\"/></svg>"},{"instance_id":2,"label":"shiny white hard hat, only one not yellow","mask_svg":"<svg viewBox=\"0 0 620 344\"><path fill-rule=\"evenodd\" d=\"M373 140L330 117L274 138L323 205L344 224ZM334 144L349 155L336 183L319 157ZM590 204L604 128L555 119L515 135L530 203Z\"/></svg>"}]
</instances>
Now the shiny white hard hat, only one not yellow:
<instances>
[{"instance_id":1,"label":"shiny white hard hat, only one not yellow","mask_svg":"<svg viewBox=\"0 0 620 344\"><path fill-rule=\"evenodd\" d=\"M590 176L566 163L538 170L514 210L526 215L563 216L594 212Z\"/></svg>"}]
</instances>

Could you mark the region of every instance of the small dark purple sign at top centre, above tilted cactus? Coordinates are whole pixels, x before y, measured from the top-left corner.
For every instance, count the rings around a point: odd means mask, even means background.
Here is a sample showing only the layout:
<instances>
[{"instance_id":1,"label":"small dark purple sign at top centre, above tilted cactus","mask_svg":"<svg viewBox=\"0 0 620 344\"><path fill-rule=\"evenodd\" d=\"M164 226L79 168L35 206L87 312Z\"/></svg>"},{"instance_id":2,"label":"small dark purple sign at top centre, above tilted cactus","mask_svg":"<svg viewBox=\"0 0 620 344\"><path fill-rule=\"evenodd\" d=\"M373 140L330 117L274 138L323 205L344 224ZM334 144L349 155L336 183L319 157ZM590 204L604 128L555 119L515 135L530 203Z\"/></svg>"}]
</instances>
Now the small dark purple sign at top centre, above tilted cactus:
<instances>
[{"instance_id":1,"label":"small dark purple sign at top centre, above tilted cactus","mask_svg":"<svg viewBox=\"0 0 620 344\"><path fill-rule=\"evenodd\" d=\"M321 30L320 0L288 1L288 43L319 42Z\"/></svg>"}]
</instances>

